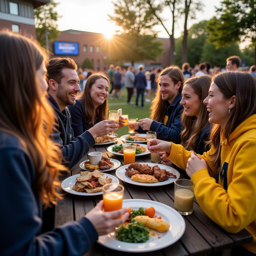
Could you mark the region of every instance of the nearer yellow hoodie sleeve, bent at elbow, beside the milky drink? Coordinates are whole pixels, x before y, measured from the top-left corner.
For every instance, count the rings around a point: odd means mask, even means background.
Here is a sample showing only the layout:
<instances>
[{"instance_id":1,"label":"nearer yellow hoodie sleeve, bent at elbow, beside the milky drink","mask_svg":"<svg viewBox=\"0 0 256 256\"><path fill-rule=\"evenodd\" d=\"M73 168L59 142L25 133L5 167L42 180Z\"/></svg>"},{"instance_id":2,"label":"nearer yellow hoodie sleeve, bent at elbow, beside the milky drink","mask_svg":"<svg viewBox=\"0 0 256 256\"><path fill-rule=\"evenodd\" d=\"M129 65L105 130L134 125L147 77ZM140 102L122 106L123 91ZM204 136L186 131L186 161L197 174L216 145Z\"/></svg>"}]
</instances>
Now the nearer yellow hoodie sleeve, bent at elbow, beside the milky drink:
<instances>
[{"instance_id":1,"label":"nearer yellow hoodie sleeve, bent at elbow, beside the milky drink","mask_svg":"<svg viewBox=\"0 0 256 256\"><path fill-rule=\"evenodd\" d=\"M232 180L227 191L209 176L206 169L194 173L195 197L202 210L230 233L237 233L255 220L256 212L256 140L246 140L228 172ZM233 166L232 166L233 164Z\"/></svg>"}]
</instances>

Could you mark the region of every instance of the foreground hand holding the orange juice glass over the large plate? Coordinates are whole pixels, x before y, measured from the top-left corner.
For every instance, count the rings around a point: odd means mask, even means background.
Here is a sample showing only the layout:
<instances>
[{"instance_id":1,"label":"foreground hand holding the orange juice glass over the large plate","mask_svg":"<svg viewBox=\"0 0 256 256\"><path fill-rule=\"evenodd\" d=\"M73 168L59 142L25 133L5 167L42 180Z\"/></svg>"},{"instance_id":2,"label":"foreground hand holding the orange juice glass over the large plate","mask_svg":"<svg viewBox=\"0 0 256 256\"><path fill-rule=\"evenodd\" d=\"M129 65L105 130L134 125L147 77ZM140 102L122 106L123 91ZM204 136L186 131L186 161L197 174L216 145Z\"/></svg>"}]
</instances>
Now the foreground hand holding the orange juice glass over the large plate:
<instances>
[{"instance_id":1,"label":"foreground hand holding the orange juice glass over the large plate","mask_svg":"<svg viewBox=\"0 0 256 256\"><path fill-rule=\"evenodd\" d=\"M91 211L86 214L86 218L91 221L99 236L113 232L116 227L123 224L128 218L129 213L126 208L116 211L102 211L103 200L101 200ZM113 219L121 216L121 218Z\"/></svg>"}]
</instances>

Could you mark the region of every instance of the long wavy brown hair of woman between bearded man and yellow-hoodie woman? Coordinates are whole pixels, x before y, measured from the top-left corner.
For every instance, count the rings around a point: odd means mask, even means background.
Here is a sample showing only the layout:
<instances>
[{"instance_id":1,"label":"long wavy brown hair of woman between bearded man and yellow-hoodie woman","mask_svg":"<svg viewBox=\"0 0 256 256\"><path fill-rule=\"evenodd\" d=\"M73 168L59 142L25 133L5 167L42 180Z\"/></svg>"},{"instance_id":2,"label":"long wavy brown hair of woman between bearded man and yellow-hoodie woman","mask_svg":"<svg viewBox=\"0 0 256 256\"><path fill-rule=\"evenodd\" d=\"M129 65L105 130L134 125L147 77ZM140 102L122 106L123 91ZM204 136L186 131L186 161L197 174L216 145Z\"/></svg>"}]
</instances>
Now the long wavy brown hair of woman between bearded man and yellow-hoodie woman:
<instances>
[{"instance_id":1,"label":"long wavy brown hair of woman between bearded man and yellow-hoodie woman","mask_svg":"<svg viewBox=\"0 0 256 256\"><path fill-rule=\"evenodd\" d=\"M190 84L201 100L198 118L196 118L196 116L187 116L185 111L183 111L180 118L184 126L184 130L181 132L182 145L186 150L194 150L200 132L209 125L209 116L203 101L208 96L211 78L206 75L191 77L183 86L185 84Z\"/></svg>"}]
</instances>

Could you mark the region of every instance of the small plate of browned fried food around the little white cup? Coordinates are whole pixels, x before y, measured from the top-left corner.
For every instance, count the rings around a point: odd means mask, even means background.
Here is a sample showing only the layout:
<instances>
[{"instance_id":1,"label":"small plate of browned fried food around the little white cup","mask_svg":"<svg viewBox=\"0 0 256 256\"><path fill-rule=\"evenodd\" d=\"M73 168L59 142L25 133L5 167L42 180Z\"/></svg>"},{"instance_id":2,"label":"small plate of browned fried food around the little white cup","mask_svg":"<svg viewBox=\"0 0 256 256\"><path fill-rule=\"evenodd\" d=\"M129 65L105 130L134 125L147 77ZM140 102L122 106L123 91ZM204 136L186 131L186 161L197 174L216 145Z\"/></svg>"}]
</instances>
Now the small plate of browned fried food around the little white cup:
<instances>
[{"instance_id":1,"label":"small plate of browned fried food around the little white cup","mask_svg":"<svg viewBox=\"0 0 256 256\"><path fill-rule=\"evenodd\" d=\"M101 160L98 164L92 165L90 164L90 160L83 161L80 163L80 168L86 171L94 171L99 170L100 172L108 172L114 170L120 166L120 162L116 159L108 158L108 157L101 157Z\"/></svg>"}]
</instances>

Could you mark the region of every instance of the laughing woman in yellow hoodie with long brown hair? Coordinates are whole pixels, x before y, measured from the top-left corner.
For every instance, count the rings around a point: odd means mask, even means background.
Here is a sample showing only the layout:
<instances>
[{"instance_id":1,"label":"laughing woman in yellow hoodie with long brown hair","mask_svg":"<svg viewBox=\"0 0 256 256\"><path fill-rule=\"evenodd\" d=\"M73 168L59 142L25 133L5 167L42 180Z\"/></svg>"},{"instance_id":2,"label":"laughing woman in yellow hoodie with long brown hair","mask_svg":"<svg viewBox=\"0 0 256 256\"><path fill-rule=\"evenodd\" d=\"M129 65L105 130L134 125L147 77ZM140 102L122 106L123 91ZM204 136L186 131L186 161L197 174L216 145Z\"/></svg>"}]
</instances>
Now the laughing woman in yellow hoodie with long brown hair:
<instances>
[{"instance_id":1,"label":"laughing woman in yellow hoodie with long brown hair","mask_svg":"<svg viewBox=\"0 0 256 256\"><path fill-rule=\"evenodd\" d=\"M150 141L148 148L164 151L186 170L198 204L213 221L230 233L246 228L253 235L233 255L256 255L256 79L241 72L217 74L204 104L215 124L208 152L197 155L160 140Z\"/></svg>"}]
</instances>

